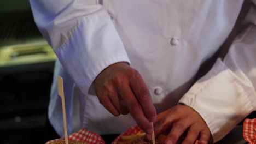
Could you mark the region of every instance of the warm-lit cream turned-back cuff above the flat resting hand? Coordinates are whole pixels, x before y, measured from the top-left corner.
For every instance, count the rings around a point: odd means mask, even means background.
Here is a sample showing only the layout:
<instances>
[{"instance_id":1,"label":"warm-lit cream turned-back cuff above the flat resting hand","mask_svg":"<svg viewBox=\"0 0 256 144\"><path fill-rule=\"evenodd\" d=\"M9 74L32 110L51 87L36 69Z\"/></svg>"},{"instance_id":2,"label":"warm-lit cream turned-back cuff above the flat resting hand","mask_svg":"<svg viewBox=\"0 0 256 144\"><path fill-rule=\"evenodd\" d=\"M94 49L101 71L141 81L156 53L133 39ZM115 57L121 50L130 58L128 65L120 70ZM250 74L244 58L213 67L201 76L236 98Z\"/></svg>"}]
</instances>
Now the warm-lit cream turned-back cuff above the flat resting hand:
<instances>
[{"instance_id":1,"label":"warm-lit cream turned-back cuff above the flat resting hand","mask_svg":"<svg viewBox=\"0 0 256 144\"><path fill-rule=\"evenodd\" d=\"M201 115L217 142L253 111L253 89L250 81L237 77L218 59L179 103Z\"/></svg>"}]
</instances>

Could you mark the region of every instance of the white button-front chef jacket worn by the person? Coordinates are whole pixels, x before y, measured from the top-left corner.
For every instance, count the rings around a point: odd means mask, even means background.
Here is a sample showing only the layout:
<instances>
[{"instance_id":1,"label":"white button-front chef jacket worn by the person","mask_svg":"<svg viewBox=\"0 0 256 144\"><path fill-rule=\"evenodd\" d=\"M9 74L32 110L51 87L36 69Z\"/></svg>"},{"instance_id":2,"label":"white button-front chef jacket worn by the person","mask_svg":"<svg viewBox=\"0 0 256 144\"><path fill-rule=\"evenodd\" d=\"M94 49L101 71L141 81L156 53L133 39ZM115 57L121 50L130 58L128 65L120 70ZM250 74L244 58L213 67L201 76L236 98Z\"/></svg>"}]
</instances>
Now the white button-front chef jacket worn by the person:
<instances>
[{"instance_id":1,"label":"white button-front chef jacket worn by the person","mask_svg":"<svg viewBox=\"0 0 256 144\"><path fill-rule=\"evenodd\" d=\"M63 133L56 76L64 80L68 134L81 128L121 133L136 124L114 117L98 102L95 77L127 62L142 75L159 113L177 103L196 110L214 141L256 110L256 1L247 28L224 61L191 87L200 65L224 43L242 0L30 0L34 20L53 47L56 62L49 119Z\"/></svg>"}]
</instances>

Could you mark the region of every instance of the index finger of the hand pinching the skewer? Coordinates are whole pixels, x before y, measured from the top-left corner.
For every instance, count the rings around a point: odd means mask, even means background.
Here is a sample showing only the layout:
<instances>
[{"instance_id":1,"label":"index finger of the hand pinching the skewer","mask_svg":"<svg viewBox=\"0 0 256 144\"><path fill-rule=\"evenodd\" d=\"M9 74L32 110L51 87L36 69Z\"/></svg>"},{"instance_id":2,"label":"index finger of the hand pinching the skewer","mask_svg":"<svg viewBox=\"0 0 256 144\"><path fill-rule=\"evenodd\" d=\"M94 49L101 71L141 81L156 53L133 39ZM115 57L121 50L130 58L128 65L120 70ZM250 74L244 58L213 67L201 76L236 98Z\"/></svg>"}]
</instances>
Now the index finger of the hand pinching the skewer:
<instances>
[{"instance_id":1,"label":"index finger of the hand pinching the skewer","mask_svg":"<svg viewBox=\"0 0 256 144\"><path fill-rule=\"evenodd\" d=\"M154 122L156 119L155 106L153 105L148 87L144 83L142 76L138 73L138 71L133 73L130 79L130 85L133 93L142 107L144 114L150 122Z\"/></svg>"}]
</instances>

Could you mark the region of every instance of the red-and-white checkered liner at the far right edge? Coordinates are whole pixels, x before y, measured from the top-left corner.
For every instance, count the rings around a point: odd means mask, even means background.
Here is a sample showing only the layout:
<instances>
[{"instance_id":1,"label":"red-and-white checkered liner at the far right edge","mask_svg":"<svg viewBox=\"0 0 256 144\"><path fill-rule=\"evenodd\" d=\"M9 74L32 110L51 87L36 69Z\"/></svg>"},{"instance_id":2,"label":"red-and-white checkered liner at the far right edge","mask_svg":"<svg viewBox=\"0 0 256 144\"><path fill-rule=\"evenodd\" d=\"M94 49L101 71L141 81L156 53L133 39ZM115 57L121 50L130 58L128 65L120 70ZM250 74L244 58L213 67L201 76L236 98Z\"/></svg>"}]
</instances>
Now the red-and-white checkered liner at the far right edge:
<instances>
[{"instance_id":1,"label":"red-and-white checkered liner at the far right edge","mask_svg":"<svg viewBox=\"0 0 256 144\"><path fill-rule=\"evenodd\" d=\"M245 119L243 122L243 137L249 144L256 144L256 118Z\"/></svg>"}]
</instances>

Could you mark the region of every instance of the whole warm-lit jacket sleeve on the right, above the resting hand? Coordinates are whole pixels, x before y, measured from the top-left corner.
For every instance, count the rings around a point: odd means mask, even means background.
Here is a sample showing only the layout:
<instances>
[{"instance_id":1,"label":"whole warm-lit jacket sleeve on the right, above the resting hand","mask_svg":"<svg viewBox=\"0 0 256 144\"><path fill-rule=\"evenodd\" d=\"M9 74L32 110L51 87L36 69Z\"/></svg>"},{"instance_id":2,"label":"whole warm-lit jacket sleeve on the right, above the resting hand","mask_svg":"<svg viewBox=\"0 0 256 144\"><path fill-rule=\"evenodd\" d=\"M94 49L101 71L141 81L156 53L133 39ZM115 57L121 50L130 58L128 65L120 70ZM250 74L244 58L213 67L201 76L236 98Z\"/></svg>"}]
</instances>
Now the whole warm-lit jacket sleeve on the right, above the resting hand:
<instances>
[{"instance_id":1,"label":"whole warm-lit jacket sleeve on the right, above the resting hand","mask_svg":"<svg viewBox=\"0 0 256 144\"><path fill-rule=\"evenodd\" d=\"M199 79L179 103L197 111L214 142L256 110L256 1L245 18L246 29L230 46L224 60Z\"/></svg>"}]
</instances>

